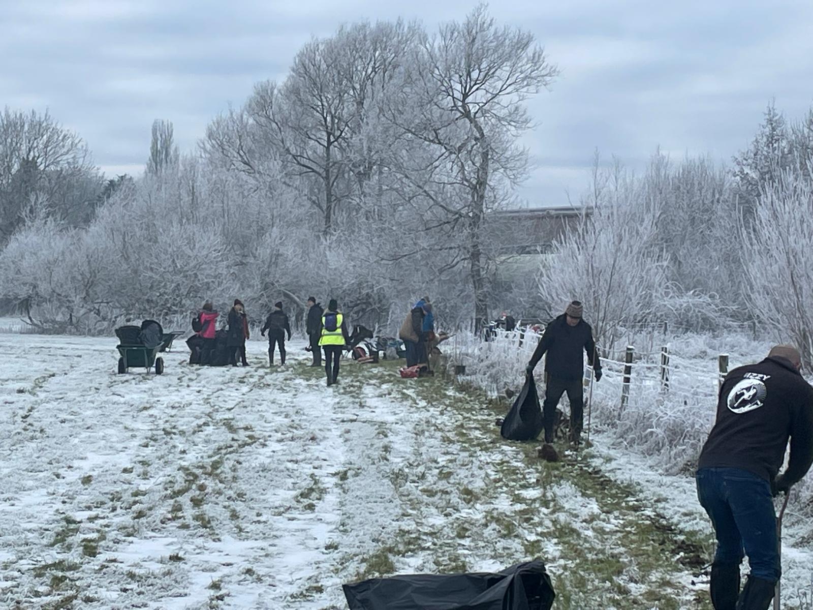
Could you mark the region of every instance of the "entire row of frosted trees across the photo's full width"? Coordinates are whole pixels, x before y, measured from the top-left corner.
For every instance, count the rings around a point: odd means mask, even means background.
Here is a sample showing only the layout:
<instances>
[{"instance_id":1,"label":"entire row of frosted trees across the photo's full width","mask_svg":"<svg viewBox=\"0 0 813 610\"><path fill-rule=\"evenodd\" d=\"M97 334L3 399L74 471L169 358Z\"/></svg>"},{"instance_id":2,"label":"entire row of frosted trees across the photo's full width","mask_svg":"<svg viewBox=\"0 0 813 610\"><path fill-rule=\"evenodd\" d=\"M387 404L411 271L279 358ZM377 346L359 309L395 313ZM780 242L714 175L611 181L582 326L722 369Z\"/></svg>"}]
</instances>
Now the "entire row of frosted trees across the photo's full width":
<instances>
[{"instance_id":1,"label":"entire row of frosted trees across the photo's full width","mask_svg":"<svg viewBox=\"0 0 813 610\"><path fill-rule=\"evenodd\" d=\"M533 35L483 7L433 34L352 24L215 117L198 150L181 155L156 121L145 174L107 183L76 134L7 110L0 295L33 323L98 331L218 295L259 309L335 296L391 326L424 294L450 325L481 324L495 305L553 315L580 297L604 341L645 320L758 318L778 332L793 316L793 338L809 342L800 244L813 236L798 216L811 207L813 113L787 124L772 106L732 167L656 152L633 176L597 157L577 204L590 213L497 294L504 236L490 218L528 171L524 102L556 76Z\"/></svg>"}]
</instances>

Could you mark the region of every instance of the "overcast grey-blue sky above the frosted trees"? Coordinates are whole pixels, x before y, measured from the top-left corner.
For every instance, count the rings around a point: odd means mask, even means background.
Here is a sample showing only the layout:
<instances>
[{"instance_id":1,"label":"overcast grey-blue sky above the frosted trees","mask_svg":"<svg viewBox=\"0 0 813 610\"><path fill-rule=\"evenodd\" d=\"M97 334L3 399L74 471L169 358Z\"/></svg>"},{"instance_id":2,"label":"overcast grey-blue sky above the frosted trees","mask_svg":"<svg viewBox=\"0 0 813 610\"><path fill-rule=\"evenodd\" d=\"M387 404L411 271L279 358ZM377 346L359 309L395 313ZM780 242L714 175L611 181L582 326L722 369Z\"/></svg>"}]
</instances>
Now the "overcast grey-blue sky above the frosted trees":
<instances>
[{"instance_id":1,"label":"overcast grey-blue sky above the frosted trees","mask_svg":"<svg viewBox=\"0 0 813 610\"><path fill-rule=\"evenodd\" d=\"M50 109L110 175L139 173L156 118L182 150L252 85L281 80L302 43L341 23L462 20L459 0L0 0L0 107ZM767 103L798 118L813 103L813 1L502 0L499 21L531 30L562 75L531 103L537 168L528 204L585 189L593 150L642 168L728 160Z\"/></svg>"}]
</instances>

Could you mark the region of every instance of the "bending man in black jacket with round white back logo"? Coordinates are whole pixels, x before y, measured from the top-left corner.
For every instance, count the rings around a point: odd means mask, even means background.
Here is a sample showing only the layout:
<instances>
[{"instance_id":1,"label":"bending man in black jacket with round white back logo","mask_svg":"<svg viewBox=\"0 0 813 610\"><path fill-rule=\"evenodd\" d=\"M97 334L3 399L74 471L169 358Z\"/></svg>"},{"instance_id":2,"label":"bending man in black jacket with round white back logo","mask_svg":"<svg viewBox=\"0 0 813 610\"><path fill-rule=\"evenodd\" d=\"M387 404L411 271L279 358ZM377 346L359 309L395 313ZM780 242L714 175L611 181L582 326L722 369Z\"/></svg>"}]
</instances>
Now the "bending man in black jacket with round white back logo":
<instances>
[{"instance_id":1,"label":"bending man in black jacket with round white back logo","mask_svg":"<svg viewBox=\"0 0 813 610\"><path fill-rule=\"evenodd\" d=\"M781 567L772 496L787 493L813 463L813 387L801 367L795 347L775 346L762 362L728 373L720 388L696 475L717 536L709 587L716 610L766 610L773 599ZM788 439L788 468L777 477ZM743 547L751 571L740 592Z\"/></svg>"}]
</instances>

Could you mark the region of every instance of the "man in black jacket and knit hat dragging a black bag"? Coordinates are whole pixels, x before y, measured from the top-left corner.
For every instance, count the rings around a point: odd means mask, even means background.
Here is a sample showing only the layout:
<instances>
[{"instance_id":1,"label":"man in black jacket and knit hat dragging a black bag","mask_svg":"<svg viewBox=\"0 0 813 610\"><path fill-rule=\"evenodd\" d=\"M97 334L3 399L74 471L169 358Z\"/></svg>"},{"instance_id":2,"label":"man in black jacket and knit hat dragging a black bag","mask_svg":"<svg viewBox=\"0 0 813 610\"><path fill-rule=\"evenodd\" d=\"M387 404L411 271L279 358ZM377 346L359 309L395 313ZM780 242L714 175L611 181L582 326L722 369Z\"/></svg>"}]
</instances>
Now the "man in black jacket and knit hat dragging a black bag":
<instances>
[{"instance_id":1,"label":"man in black jacket and knit hat dragging a black bag","mask_svg":"<svg viewBox=\"0 0 813 610\"><path fill-rule=\"evenodd\" d=\"M542 356L545 360L546 386L545 403L542 405L542 419L545 422L545 442L554 440L554 420L556 405L562 394L567 392L570 400L571 440L580 442L585 399L582 394L581 380L584 377L585 360L582 351L587 352L587 359L593 366L596 381L602 378L602 365L593 342L593 329L582 319L584 311L579 301L573 301L567 310L552 321L533 352L525 373L533 375Z\"/></svg>"}]
</instances>

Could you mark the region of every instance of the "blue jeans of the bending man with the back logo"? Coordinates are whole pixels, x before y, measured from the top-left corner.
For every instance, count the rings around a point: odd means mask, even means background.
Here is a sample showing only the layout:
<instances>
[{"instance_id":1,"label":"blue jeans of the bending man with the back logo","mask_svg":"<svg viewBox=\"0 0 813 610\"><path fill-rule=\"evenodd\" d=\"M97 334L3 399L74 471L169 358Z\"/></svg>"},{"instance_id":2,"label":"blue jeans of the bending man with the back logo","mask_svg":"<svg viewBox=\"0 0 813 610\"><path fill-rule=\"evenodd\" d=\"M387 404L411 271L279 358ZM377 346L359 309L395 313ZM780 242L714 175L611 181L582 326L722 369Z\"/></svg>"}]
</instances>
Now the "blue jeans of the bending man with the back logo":
<instances>
[{"instance_id":1,"label":"blue jeans of the bending man with the back logo","mask_svg":"<svg viewBox=\"0 0 813 610\"><path fill-rule=\"evenodd\" d=\"M771 484L741 468L701 468L695 478L698 499L717 535L715 563L739 565L744 547L752 576L779 580Z\"/></svg>"}]
</instances>

